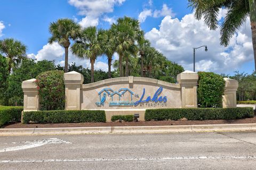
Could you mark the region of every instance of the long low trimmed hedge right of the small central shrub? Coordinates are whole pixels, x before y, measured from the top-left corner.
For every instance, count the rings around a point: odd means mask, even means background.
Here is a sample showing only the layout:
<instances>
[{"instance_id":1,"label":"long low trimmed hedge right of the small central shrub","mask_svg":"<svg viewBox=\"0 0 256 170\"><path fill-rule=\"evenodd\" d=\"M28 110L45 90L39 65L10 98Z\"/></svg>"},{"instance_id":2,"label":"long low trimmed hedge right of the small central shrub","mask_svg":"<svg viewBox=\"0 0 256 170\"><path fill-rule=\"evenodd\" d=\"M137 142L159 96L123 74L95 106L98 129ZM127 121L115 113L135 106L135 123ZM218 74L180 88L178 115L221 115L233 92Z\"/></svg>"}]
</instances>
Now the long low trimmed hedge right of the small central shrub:
<instances>
[{"instance_id":1,"label":"long low trimmed hedge right of the small central shrub","mask_svg":"<svg viewBox=\"0 0 256 170\"><path fill-rule=\"evenodd\" d=\"M252 107L237 108L167 108L167 109L146 109L146 121L167 121L179 120L230 120L246 117L254 117Z\"/></svg>"}]
</instances>

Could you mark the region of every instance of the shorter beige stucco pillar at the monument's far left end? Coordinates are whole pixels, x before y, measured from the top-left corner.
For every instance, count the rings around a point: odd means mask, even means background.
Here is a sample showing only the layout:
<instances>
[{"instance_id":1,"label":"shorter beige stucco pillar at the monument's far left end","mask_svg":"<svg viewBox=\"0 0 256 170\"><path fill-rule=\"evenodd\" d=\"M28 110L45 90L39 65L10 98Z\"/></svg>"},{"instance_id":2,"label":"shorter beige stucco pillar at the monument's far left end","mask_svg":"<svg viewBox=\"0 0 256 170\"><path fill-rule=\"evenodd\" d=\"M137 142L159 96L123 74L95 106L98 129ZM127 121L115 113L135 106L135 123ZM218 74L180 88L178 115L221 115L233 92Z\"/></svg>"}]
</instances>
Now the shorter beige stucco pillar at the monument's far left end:
<instances>
[{"instance_id":1,"label":"shorter beige stucco pillar at the monument's far left end","mask_svg":"<svg viewBox=\"0 0 256 170\"><path fill-rule=\"evenodd\" d=\"M23 111L38 111L40 109L36 79L22 81L21 87L24 93Z\"/></svg>"}]
</instances>

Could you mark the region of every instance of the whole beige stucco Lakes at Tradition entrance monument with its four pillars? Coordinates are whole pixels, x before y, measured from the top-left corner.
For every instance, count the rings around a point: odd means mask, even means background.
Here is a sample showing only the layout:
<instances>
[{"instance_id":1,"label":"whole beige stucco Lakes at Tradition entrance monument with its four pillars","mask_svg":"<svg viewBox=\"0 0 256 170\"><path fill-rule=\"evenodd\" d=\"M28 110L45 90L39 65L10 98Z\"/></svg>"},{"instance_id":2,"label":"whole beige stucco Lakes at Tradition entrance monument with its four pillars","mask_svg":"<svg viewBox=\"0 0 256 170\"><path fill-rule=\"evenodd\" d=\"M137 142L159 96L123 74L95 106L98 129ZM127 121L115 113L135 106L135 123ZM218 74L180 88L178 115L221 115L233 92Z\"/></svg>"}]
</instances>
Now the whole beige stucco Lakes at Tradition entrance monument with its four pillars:
<instances>
[{"instance_id":1,"label":"whole beige stucco Lakes at Tradition entrance monument with its four pillars","mask_svg":"<svg viewBox=\"0 0 256 170\"><path fill-rule=\"evenodd\" d=\"M113 115L139 114L144 120L146 109L196 108L196 72L185 71L178 83L141 77L121 77L83 84L83 75L75 71L64 74L66 110L105 110L107 121ZM39 110L35 79L22 82L24 111ZM223 107L236 107L236 80L227 79Z\"/></svg>"}]
</instances>

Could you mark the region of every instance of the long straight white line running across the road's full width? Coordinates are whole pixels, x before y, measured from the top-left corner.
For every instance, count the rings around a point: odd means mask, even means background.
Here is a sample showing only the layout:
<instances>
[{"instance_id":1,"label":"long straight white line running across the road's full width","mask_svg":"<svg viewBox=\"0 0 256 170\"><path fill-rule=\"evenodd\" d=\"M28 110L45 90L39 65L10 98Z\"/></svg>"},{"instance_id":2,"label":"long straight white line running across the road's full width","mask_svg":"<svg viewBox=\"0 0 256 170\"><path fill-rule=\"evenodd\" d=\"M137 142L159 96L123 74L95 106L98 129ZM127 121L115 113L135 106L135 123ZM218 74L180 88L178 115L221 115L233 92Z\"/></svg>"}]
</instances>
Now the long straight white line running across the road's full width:
<instances>
[{"instance_id":1,"label":"long straight white line running across the road's full width","mask_svg":"<svg viewBox=\"0 0 256 170\"><path fill-rule=\"evenodd\" d=\"M122 160L175 160L175 159L256 159L256 156L198 156L198 157L164 157L164 158L82 158L82 159L29 159L0 160L0 163L35 163L35 162L99 162Z\"/></svg>"}]
</instances>

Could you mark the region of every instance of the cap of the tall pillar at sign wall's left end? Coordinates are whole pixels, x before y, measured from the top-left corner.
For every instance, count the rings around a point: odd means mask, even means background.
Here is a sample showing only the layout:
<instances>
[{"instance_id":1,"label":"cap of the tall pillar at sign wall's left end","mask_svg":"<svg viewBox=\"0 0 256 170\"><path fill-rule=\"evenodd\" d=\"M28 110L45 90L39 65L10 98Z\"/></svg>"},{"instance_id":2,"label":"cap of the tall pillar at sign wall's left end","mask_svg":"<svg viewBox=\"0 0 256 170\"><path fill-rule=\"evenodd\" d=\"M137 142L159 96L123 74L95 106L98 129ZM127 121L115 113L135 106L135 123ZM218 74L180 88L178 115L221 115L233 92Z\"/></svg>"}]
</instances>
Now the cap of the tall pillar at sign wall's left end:
<instances>
[{"instance_id":1,"label":"cap of the tall pillar at sign wall's left end","mask_svg":"<svg viewBox=\"0 0 256 170\"><path fill-rule=\"evenodd\" d=\"M84 77L76 71L71 71L64 73L64 82L65 84L82 84L84 82Z\"/></svg>"}]
</instances>

